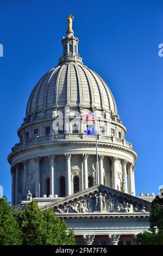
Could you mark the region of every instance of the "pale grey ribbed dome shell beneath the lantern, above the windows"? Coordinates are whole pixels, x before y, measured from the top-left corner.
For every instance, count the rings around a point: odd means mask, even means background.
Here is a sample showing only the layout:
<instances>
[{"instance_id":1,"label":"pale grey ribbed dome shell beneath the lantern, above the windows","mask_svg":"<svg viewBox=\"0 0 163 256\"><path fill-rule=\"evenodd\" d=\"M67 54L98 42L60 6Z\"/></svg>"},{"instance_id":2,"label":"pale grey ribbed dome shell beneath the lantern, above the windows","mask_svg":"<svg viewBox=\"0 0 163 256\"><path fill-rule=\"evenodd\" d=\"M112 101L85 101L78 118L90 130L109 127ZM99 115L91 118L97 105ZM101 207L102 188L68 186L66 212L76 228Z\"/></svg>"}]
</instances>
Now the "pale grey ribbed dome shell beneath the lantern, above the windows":
<instances>
[{"instance_id":1,"label":"pale grey ribbed dome shell beneath the lantern, above the windows","mask_svg":"<svg viewBox=\"0 0 163 256\"><path fill-rule=\"evenodd\" d=\"M54 106L83 106L110 110L117 107L104 80L87 66L70 62L47 72L29 97L26 115Z\"/></svg>"}]
</instances>

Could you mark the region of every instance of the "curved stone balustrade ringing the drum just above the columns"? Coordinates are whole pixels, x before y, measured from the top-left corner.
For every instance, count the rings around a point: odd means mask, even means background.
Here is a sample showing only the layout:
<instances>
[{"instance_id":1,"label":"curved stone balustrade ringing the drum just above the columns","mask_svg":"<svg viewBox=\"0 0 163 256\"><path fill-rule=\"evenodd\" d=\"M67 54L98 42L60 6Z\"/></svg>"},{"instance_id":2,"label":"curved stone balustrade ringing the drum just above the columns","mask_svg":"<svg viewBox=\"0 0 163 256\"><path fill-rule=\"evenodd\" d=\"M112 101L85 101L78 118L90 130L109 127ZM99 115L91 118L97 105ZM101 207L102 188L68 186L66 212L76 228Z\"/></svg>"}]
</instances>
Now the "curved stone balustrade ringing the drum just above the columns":
<instances>
[{"instance_id":1,"label":"curved stone balustrade ringing the drum just above the columns","mask_svg":"<svg viewBox=\"0 0 163 256\"><path fill-rule=\"evenodd\" d=\"M15 144L15 146L12 148L12 152L14 152L17 149L21 149L24 147L28 147L30 145L34 144L41 144L41 143L47 143L47 142L56 142L56 141L86 141L86 142L92 142L95 141L95 135L86 135L83 133L64 133L64 134L57 134L57 135L47 135L42 137L35 137L33 139L25 139L21 143ZM103 136L98 135L98 142L101 143L111 143L116 145L123 145L124 147L133 149L133 146L130 142L127 142L126 139L120 139L116 137L110 137L110 136Z\"/></svg>"}]
</instances>

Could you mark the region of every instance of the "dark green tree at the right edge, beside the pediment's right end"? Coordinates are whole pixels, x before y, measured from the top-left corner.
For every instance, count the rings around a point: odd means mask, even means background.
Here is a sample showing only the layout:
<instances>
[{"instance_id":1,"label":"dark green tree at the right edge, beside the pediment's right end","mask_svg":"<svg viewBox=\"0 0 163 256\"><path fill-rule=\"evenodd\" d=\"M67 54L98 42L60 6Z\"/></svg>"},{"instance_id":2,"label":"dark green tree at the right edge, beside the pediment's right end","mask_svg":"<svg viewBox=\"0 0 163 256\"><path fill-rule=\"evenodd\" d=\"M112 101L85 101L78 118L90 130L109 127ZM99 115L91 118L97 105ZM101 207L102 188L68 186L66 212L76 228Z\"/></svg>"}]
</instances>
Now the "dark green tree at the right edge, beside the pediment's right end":
<instances>
[{"instance_id":1,"label":"dark green tree at the right edge, beside the pediment's right end","mask_svg":"<svg viewBox=\"0 0 163 256\"><path fill-rule=\"evenodd\" d=\"M149 217L150 229L136 236L138 245L163 245L163 199L158 196L152 202Z\"/></svg>"}]
</instances>

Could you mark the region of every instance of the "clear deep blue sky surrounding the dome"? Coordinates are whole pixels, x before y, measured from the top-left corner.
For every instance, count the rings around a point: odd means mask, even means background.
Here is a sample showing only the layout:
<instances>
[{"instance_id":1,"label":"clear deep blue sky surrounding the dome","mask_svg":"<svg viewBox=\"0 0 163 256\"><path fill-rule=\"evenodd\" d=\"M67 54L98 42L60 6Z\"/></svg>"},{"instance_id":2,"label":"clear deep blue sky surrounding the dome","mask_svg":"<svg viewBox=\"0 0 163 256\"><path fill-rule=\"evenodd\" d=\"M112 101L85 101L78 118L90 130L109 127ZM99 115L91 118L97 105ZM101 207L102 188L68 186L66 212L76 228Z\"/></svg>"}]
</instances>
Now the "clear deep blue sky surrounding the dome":
<instances>
[{"instance_id":1,"label":"clear deep blue sky surrounding the dome","mask_svg":"<svg viewBox=\"0 0 163 256\"><path fill-rule=\"evenodd\" d=\"M163 184L163 2L136 1L0 1L1 151L0 185L10 199L7 155L18 142L28 97L40 77L58 64L66 17L85 65L108 83L127 140L138 154L136 194L158 193Z\"/></svg>"}]
</instances>

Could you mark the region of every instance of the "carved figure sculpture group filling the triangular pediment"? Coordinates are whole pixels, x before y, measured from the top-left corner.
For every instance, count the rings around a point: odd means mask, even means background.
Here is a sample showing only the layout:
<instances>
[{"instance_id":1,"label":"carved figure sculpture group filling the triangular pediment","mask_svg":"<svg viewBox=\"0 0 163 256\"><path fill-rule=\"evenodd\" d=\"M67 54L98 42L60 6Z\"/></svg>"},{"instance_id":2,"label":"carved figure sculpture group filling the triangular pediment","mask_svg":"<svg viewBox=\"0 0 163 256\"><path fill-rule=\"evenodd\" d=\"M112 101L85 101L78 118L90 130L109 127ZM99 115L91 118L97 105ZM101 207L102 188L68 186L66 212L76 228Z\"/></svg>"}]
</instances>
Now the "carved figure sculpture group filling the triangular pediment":
<instances>
[{"instance_id":1,"label":"carved figure sculpture group filling the triangular pediment","mask_svg":"<svg viewBox=\"0 0 163 256\"><path fill-rule=\"evenodd\" d=\"M83 198L76 198L68 203L54 206L58 214L87 214L88 212L142 212L148 213L148 206L131 202L131 200L113 196L111 193L96 191Z\"/></svg>"}]
</instances>

